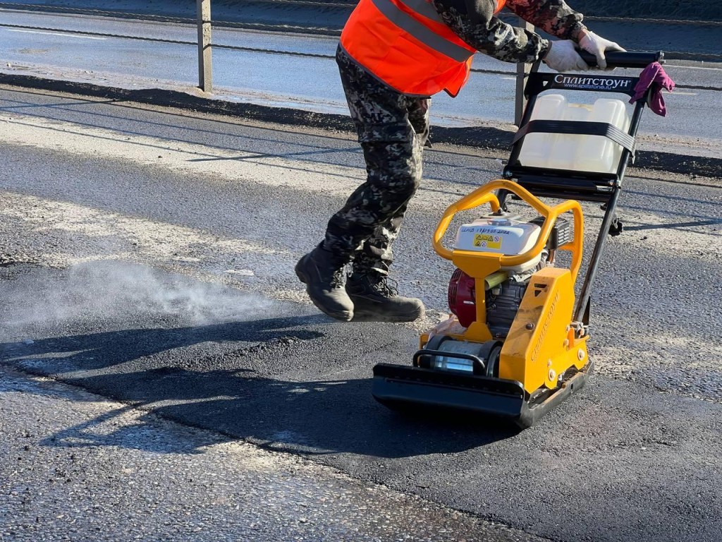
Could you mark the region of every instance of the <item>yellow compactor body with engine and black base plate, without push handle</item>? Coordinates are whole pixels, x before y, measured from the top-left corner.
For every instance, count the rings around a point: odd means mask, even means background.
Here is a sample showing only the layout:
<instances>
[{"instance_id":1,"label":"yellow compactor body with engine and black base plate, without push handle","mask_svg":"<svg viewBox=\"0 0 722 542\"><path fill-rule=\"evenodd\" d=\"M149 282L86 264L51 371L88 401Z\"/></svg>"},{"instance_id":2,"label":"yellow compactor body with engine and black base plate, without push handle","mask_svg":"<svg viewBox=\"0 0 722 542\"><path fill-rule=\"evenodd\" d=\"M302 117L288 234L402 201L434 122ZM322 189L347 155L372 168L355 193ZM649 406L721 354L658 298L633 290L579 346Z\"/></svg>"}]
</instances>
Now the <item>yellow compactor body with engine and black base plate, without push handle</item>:
<instances>
[{"instance_id":1,"label":"yellow compactor body with engine and black base plate, without push handle","mask_svg":"<svg viewBox=\"0 0 722 542\"><path fill-rule=\"evenodd\" d=\"M487 217L492 224L495 217L503 217L497 190L516 194L539 213L529 248L505 254L507 230L489 228L487 223L476 229L467 226L469 248L460 246L458 238L453 249L443 246L448 226L460 211L489 204L492 212ZM573 227L573 235L560 241L557 230L562 217L567 229ZM574 200L549 207L518 184L498 180L451 205L435 232L434 249L453 262L455 276L464 277L471 293L456 311L452 307L448 319L422 334L412 366L374 367L374 397L392 408L453 408L511 418L523 427L534 423L582 387L590 367L587 328L573 320L582 247L583 215ZM552 264L560 251L570 253L568 268ZM490 322L493 311L488 304L505 287L518 291L519 299L513 304L516 314L510 324L499 327ZM455 288L458 291L458 284Z\"/></svg>"}]
</instances>

